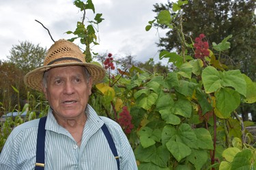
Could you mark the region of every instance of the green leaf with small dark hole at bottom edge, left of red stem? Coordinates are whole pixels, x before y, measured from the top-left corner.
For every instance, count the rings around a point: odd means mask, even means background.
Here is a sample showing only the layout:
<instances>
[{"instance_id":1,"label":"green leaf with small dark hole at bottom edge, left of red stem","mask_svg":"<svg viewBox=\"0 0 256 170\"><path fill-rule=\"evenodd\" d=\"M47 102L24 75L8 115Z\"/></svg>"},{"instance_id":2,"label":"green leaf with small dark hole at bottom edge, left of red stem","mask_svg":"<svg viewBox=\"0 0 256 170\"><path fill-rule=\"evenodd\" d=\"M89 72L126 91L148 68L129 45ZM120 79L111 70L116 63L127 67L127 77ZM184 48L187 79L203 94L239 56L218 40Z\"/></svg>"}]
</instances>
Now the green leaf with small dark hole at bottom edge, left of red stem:
<instances>
[{"instance_id":1,"label":"green leaf with small dark hole at bottom edge, left of red stem","mask_svg":"<svg viewBox=\"0 0 256 170\"><path fill-rule=\"evenodd\" d=\"M195 169L202 169L203 165L208 160L208 153L206 150L192 150L188 156L188 161L195 165Z\"/></svg>"}]
</instances>

